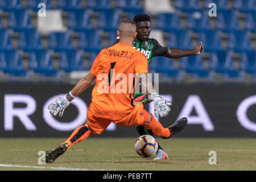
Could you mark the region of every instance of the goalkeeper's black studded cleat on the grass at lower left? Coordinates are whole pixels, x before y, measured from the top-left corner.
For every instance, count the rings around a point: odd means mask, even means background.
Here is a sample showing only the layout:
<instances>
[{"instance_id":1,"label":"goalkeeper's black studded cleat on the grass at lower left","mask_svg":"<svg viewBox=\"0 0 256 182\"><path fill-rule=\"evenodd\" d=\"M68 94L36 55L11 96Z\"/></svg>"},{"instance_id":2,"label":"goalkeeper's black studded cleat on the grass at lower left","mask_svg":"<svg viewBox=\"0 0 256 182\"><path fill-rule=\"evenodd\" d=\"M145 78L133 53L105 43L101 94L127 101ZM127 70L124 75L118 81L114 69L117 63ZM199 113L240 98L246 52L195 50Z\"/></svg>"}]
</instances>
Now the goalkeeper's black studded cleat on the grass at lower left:
<instances>
[{"instance_id":1,"label":"goalkeeper's black studded cleat on the grass at lower left","mask_svg":"<svg viewBox=\"0 0 256 182\"><path fill-rule=\"evenodd\" d=\"M53 163L55 159L59 158L60 155L64 154L64 152L68 149L68 143L61 144L60 146L54 148L51 151L46 152L46 162Z\"/></svg>"}]
</instances>

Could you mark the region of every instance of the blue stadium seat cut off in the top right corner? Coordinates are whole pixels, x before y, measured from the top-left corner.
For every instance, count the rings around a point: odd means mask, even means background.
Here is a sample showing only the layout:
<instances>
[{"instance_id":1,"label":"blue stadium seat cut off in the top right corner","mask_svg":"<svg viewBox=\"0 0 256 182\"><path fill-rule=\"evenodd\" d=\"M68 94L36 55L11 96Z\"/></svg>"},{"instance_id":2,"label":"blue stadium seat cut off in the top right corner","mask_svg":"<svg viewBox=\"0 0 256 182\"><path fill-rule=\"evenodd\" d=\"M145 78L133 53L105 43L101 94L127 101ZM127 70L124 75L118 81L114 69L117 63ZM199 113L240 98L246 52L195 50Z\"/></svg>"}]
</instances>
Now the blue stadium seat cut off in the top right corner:
<instances>
[{"instance_id":1,"label":"blue stadium seat cut off in the top right corner","mask_svg":"<svg viewBox=\"0 0 256 182\"><path fill-rule=\"evenodd\" d=\"M254 12L256 11L255 0L234 0L233 2L234 9L241 12Z\"/></svg>"}]
</instances>

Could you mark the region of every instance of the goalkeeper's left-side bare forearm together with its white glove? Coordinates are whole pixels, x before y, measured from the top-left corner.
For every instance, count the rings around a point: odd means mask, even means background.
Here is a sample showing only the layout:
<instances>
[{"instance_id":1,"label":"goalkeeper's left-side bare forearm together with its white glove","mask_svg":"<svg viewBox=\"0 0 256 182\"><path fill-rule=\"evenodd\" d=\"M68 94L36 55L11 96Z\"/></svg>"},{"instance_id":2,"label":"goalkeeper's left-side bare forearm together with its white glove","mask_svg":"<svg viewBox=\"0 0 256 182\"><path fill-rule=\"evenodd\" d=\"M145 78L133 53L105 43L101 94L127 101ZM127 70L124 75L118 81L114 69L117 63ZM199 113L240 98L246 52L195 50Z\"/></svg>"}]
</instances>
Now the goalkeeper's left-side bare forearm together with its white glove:
<instances>
[{"instance_id":1,"label":"goalkeeper's left-side bare forearm together with its white glove","mask_svg":"<svg viewBox=\"0 0 256 182\"><path fill-rule=\"evenodd\" d=\"M59 117L63 117L64 110L69 106L70 102L76 96L79 96L79 94L84 92L84 90L86 90L90 85L92 85L95 78L96 77L91 72L82 77L81 80L71 91L69 91L67 95L57 98L56 101L52 102L48 106L50 113L54 116L59 115Z\"/></svg>"}]
</instances>

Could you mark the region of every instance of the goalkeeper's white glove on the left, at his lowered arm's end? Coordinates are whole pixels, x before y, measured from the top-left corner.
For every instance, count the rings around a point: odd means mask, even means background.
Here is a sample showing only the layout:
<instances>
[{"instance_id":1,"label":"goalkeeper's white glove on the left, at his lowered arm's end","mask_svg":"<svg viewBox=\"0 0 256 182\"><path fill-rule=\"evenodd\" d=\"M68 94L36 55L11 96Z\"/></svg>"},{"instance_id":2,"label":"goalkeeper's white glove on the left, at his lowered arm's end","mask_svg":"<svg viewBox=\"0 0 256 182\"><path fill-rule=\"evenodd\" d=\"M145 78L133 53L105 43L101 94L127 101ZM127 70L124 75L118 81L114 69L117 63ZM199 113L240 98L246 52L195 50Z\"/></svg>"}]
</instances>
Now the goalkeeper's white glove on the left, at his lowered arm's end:
<instances>
[{"instance_id":1,"label":"goalkeeper's white glove on the left, at his lowered arm's end","mask_svg":"<svg viewBox=\"0 0 256 182\"><path fill-rule=\"evenodd\" d=\"M68 99L69 101L68 101ZM64 97L59 97L56 99L56 101L52 102L49 106L49 112L53 115L59 115L59 117L63 117L64 110L69 106L70 102L75 98L72 96L71 92L69 92Z\"/></svg>"}]
</instances>

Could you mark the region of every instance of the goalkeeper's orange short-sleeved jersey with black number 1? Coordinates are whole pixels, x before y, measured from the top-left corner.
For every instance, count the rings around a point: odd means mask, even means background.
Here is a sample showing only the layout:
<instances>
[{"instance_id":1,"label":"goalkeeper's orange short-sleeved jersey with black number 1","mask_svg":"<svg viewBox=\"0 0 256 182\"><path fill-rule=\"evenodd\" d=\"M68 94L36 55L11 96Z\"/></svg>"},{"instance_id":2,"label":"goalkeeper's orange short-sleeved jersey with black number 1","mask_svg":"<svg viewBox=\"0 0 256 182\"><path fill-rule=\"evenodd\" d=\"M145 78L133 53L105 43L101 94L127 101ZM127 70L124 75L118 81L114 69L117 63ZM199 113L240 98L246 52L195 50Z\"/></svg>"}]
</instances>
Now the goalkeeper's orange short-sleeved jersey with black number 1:
<instances>
[{"instance_id":1,"label":"goalkeeper's orange short-sleeved jersey with black number 1","mask_svg":"<svg viewBox=\"0 0 256 182\"><path fill-rule=\"evenodd\" d=\"M96 76L89 111L97 117L119 120L135 105L134 75L148 73L147 59L129 44L102 49L90 72Z\"/></svg>"}]
</instances>

